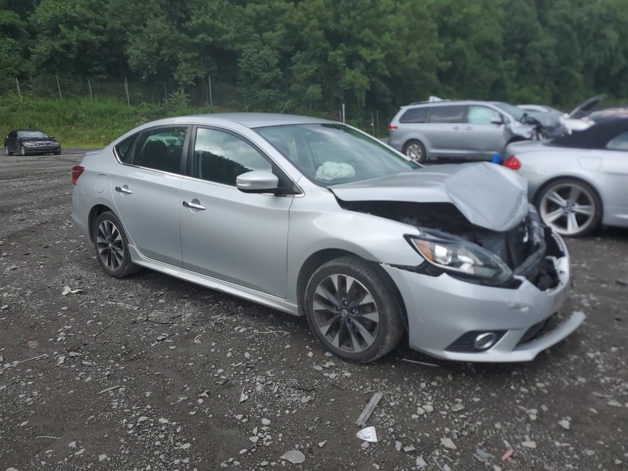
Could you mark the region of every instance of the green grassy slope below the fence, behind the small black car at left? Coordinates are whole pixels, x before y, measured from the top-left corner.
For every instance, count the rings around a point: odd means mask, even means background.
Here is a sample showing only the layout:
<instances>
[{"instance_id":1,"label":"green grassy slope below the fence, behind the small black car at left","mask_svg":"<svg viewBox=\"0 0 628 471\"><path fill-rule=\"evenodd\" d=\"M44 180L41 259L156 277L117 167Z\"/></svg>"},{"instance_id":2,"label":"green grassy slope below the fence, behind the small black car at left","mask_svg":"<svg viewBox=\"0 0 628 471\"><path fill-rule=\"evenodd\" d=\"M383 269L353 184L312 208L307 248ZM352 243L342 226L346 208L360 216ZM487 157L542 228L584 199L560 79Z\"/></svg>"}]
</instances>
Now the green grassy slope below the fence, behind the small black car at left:
<instances>
[{"instance_id":1,"label":"green grassy slope below the fence, behind the small black car at left","mask_svg":"<svg viewBox=\"0 0 628 471\"><path fill-rule=\"evenodd\" d=\"M41 129L63 147L102 147L143 122L169 116L215 111L166 103L128 106L116 99L61 100L18 97L0 99L0 135L11 129Z\"/></svg>"}]
</instances>

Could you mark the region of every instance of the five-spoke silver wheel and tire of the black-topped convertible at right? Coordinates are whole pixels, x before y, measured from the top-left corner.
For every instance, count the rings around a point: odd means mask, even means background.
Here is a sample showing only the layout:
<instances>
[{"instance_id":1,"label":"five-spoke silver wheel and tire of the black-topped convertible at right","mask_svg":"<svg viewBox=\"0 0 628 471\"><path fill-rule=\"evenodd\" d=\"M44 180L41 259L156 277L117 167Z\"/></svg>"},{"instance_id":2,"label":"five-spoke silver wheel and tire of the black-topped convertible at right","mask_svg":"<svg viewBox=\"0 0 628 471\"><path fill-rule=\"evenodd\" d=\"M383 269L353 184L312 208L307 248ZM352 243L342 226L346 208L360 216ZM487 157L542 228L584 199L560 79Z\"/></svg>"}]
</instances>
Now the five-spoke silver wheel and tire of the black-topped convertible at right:
<instances>
[{"instance_id":1,"label":"five-spoke silver wheel and tire of the black-topped convertible at right","mask_svg":"<svg viewBox=\"0 0 628 471\"><path fill-rule=\"evenodd\" d=\"M543 223L561 236L588 236L602 222L602 200L591 185L575 178L549 182L535 205Z\"/></svg>"}]
</instances>

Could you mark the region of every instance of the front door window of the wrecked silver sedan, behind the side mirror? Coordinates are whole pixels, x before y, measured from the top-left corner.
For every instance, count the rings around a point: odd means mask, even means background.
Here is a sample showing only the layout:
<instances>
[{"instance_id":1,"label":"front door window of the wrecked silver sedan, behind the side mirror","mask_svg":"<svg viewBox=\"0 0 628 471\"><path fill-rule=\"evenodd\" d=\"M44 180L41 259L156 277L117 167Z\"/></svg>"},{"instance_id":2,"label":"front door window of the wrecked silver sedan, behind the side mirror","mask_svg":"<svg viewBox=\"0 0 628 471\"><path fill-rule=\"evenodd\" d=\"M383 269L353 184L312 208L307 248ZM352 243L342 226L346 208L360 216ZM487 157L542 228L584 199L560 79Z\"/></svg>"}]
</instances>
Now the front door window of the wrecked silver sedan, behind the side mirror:
<instances>
[{"instance_id":1,"label":"front door window of the wrecked silver sedan, behind the side mirror","mask_svg":"<svg viewBox=\"0 0 628 471\"><path fill-rule=\"evenodd\" d=\"M250 144L233 134L198 129L193 176L235 187L236 177L251 170L273 171L273 166Z\"/></svg>"}]
</instances>

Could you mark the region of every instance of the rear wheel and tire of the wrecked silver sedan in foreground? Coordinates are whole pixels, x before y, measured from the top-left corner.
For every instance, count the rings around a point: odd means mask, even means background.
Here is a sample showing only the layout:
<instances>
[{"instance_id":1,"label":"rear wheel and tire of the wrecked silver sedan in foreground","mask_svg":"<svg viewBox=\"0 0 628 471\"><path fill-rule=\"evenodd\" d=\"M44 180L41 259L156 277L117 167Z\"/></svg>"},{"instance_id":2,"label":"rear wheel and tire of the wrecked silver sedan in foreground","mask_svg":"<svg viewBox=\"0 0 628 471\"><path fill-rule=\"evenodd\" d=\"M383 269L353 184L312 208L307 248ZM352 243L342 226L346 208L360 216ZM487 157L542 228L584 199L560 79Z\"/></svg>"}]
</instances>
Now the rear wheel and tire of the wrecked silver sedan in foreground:
<instances>
[{"instance_id":1,"label":"rear wheel and tire of the wrecked silver sedan in foreground","mask_svg":"<svg viewBox=\"0 0 628 471\"><path fill-rule=\"evenodd\" d=\"M131 261L126 232L120 220L111 211L102 213L96 219L92 239L96 258L109 276L124 278L141 269Z\"/></svg>"}]
</instances>

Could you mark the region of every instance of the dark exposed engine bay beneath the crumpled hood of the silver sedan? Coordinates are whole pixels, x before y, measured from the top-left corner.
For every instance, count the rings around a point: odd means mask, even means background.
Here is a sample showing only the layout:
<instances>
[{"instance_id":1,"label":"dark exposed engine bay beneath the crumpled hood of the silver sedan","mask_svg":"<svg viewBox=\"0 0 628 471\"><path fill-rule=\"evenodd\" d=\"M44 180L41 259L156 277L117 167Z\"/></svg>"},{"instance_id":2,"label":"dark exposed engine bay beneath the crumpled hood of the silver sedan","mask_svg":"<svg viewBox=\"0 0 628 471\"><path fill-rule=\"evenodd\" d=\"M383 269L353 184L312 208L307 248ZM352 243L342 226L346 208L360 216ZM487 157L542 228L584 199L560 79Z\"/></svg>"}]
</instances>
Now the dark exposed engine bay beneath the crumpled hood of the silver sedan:
<instances>
[{"instance_id":1,"label":"dark exposed engine bay beneath the crumpled hood of the silver sedan","mask_svg":"<svg viewBox=\"0 0 628 471\"><path fill-rule=\"evenodd\" d=\"M560 283L551 257L561 257L563 252L551 230L541 224L536 211L531 210L516 227L499 232L470 223L452 203L413 203L396 201L352 201L338 199L338 203L357 212L397 220L414 227L435 229L462 237L497 255L511 268L514 275L525 276L544 291ZM425 264L424 264L425 265ZM421 273L438 276L433 266L418 269ZM467 279L467 281L472 281ZM516 288L519 283L511 280L504 288Z\"/></svg>"}]
</instances>

